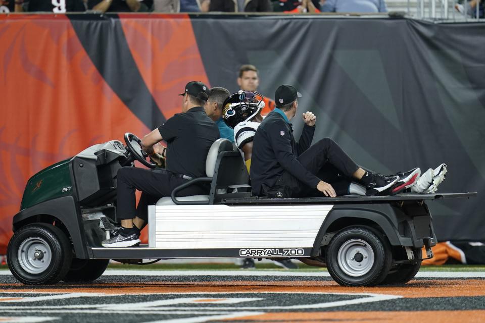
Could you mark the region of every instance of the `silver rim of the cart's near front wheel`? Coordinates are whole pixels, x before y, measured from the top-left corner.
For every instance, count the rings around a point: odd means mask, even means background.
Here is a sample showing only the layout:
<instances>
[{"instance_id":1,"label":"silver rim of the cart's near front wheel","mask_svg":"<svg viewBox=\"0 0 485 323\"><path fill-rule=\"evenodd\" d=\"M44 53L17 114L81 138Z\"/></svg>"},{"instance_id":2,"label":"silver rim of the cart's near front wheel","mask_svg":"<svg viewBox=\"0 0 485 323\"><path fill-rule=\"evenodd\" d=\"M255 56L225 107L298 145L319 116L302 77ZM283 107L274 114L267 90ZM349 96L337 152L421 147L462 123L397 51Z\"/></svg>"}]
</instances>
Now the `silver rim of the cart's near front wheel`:
<instances>
[{"instance_id":1,"label":"silver rim of the cart's near front wheel","mask_svg":"<svg viewBox=\"0 0 485 323\"><path fill-rule=\"evenodd\" d=\"M29 274L41 274L51 264L52 250L42 238L25 239L19 247L18 259L20 266Z\"/></svg>"}]
</instances>

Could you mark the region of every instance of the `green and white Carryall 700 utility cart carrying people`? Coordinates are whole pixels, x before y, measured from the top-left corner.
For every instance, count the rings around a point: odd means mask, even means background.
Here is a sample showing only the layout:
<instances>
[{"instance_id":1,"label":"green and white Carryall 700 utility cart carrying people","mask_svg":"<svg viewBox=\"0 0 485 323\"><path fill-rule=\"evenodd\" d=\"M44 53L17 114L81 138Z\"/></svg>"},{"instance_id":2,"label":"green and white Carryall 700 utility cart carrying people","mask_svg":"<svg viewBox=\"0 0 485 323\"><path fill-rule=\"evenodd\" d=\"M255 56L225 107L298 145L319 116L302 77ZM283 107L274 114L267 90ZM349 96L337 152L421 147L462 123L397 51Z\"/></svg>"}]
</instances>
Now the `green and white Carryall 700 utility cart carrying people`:
<instances>
[{"instance_id":1,"label":"green and white Carryall 700 utility cart carrying people","mask_svg":"<svg viewBox=\"0 0 485 323\"><path fill-rule=\"evenodd\" d=\"M251 196L239 151L218 139L207 156L206 177L177 187L149 206L148 244L104 248L119 228L116 174L134 160L154 168L140 139L125 134L97 144L32 176L20 212L8 264L22 283L89 282L109 259L144 264L147 259L295 258L328 268L343 286L403 284L432 257L437 243L426 202L476 193L349 195L271 199ZM178 197L199 183L208 195Z\"/></svg>"}]
</instances>

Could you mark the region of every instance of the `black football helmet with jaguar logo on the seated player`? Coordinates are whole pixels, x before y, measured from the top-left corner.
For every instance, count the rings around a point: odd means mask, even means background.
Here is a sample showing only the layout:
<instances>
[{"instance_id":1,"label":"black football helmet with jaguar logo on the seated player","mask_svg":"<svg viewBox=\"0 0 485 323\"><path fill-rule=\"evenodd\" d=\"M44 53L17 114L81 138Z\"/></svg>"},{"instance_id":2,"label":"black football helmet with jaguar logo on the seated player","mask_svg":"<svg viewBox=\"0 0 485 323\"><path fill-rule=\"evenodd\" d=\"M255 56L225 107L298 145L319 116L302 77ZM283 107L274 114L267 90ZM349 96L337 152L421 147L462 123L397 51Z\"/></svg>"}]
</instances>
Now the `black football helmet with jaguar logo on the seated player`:
<instances>
[{"instance_id":1,"label":"black football helmet with jaguar logo on the seated player","mask_svg":"<svg viewBox=\"0 0 485 323\"><path fill-rule=\"evenodd\" d=\"M264 107L264 96L258 92L239 90L229 95L222 104L222 119L232 129L239 123L251 120Z\"/></svg>"}]
</instances>

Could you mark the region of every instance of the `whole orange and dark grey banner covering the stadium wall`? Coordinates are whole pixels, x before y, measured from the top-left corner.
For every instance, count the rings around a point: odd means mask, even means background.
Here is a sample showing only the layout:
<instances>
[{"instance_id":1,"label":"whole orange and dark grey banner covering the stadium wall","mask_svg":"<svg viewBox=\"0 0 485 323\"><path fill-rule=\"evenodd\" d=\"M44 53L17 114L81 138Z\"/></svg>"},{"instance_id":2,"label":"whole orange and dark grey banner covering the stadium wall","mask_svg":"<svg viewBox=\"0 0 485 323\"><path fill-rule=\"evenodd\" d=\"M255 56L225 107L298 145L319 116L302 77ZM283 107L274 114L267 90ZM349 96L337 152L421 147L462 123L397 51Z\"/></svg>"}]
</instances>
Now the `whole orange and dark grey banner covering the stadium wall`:
<instances>
[{"instance_id":1,"label":"whole orange and dark grey banner covering the stadium wall","mask_svg":"<svg viewBox=\"0 0 485 323\"><path fill-rule=\"evenodd\" d=\"M148 133L180 112L186 82L293 84L315 139L392 174L448 164L429 203L439 240L483 240L485 25L410 19L211 15L0 16L0 254L30 176L86 146ZM294 122L299 134L303 123Z\"/></svg>"}]
</instances>

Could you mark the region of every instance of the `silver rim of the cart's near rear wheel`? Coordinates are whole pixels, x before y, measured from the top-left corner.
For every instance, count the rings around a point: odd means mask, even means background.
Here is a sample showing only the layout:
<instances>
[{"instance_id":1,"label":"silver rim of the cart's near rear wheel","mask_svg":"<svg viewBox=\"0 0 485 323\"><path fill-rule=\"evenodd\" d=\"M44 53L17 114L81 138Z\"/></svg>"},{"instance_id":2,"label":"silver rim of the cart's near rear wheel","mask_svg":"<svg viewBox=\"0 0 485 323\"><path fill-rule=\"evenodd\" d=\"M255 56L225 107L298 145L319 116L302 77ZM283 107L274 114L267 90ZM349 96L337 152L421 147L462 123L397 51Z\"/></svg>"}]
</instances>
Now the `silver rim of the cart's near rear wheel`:
<instances>
[{"instance_id":1,"label":"silver rim of the cart's near rear wheel","mask_svg":"<svg viewBox=\"0 0 485 323\"><path fill-rule=\"evenodd\" d=\"M374 251L364 240L351 239L338 249L337 261L344 273L352 277L360 277L372 269Z\"/></svg>"}]
</instances>

